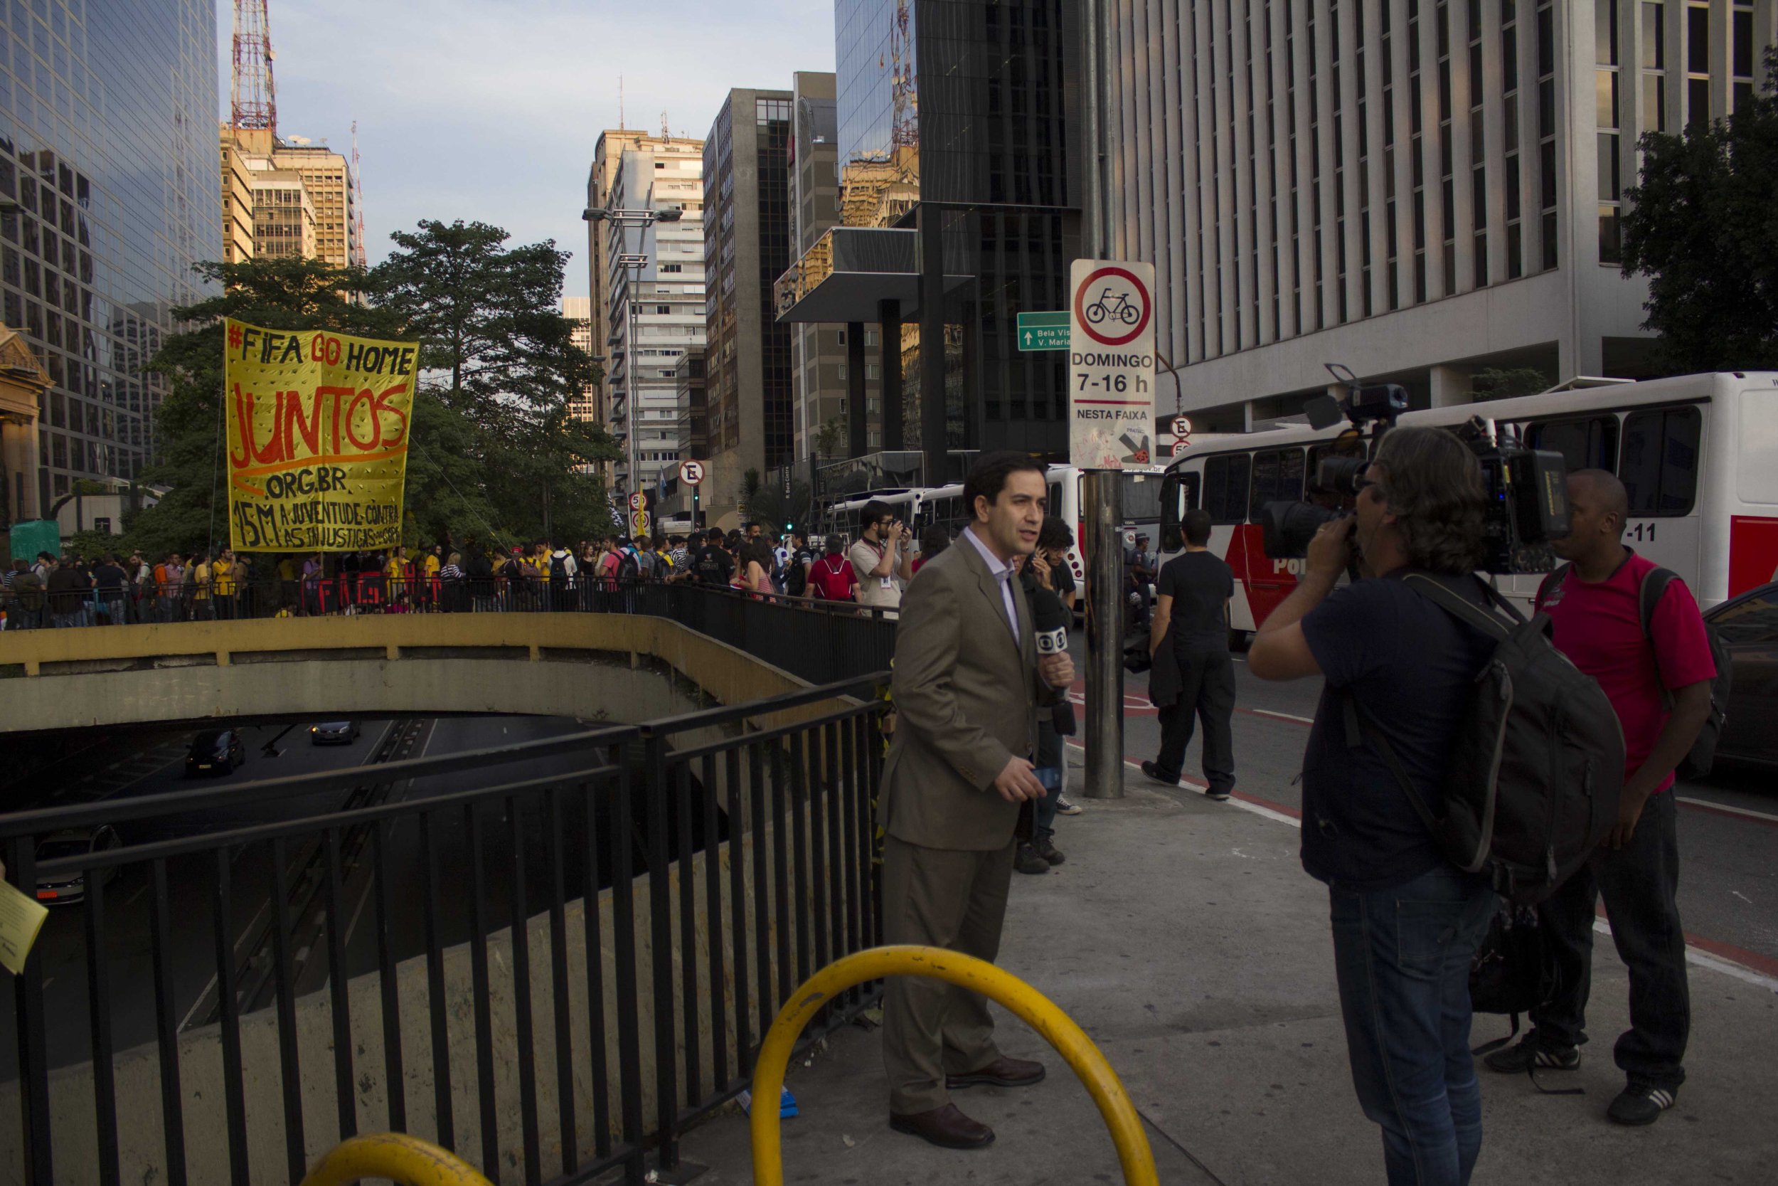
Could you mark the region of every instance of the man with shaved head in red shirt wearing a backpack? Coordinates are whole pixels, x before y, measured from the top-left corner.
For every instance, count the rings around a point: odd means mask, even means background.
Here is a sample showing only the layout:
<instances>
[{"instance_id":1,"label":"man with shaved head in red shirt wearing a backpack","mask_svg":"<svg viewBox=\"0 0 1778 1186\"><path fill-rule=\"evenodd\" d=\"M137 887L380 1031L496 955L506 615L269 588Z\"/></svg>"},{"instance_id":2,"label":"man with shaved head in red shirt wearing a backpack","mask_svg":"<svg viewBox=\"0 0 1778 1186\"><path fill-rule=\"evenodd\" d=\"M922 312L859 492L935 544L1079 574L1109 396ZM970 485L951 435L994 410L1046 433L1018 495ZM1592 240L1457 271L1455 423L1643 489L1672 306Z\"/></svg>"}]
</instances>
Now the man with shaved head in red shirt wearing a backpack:
<instances>
[{"instance_id":1,"label":"man with shaved head in red shirt wearing a backpack","mask_svg":"<svg viewBox=\"0 0 1778 1186\"><path fill-rule=\"evenodd\" d=\"M1618 1124L1654 1124L1686 1079L1691 998L1686 932L1678 921L1678 845L1670 788L1710 713L1716 663L1703 617L1675 576L1643 628L1641 590L1657 569L1623 546L1630 498L1614 475L1568 475L1572 530L1554 542L1565 564L1538 590L1556 649L1598 681L1623 725L1625 772L1618 827L1593 859L1538 914L1554 951L1556 996L1531 1010L1533 1030L1517 1046L1488 1054L1494 1070L1572 1070L1586 1042L1586 998L1593 969L1598 898L1611 937L1630 971L1630 1030L1618 1038L1618 1069L1629 1078L1611 1101Z\"/></svg>"}]
</instances>

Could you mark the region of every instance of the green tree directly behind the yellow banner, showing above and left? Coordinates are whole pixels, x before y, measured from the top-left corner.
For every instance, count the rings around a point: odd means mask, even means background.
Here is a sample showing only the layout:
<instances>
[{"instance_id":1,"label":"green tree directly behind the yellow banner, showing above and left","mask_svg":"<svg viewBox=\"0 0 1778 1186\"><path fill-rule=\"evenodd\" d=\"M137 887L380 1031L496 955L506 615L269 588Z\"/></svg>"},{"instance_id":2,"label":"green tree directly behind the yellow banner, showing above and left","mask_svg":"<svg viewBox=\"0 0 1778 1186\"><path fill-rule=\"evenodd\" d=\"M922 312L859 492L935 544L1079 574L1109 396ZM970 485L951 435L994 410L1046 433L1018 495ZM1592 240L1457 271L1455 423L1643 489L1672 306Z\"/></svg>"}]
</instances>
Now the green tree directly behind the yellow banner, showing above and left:
<instances>
[{"instance_id":1,"label":"green tree directly behind the yellow banner, showing above and left","mask_svg":"<svg viewBox=\"0 0 1778 1186\"><path fill-rule=\"evenodd\" d=\"M220 295L176 308L196 329L169 336L149 361L167 377L155 413L158 461L144 478L169 487L155 507L124 516L124 533L144 555L188 553L228 539L222 441L222 318L268 329L338 329L370 338L402 336L388 311L356 299L364 272L316 260L199 263L199 276Z\"/></svg>"}]
</instances>

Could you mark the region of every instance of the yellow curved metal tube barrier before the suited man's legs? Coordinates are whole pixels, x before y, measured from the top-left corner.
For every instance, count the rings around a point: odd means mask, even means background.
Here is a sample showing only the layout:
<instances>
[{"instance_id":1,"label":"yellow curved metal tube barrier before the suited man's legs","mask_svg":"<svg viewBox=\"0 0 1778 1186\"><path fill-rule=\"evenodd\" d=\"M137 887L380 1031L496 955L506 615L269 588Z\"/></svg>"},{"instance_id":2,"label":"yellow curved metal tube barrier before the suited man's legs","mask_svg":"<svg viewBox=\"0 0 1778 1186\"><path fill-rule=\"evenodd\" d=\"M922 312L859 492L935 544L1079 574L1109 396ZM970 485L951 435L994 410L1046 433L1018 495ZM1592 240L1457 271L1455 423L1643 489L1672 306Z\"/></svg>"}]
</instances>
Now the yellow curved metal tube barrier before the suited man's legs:
<instances>
[{"instance_id":1,"label":"yellow curved metal tube barrier before the suited man's legs","mask_svg":"<svg viewBox=\"0 0 1778 1186\"><path fill-rule=\"evenodd\" d=\"M1149 1136L1141 1131L1141 1117L1129 1102L1129 1094L1124 1092L1111 1063L1099 1053L1085 1030L1042 992L987 960L912 944L871 948L836 960L809 976L779 1010L777 1021L772 1022L772 1030L759 1047L759 1063L754 1067L750 1117L754 1186L784 1186L777 1101L784 1090L784 1069L789 1065L791 1049L804 1026L836 994L880 976L935 976L960 989L980 992L1017 1014L1021 1021L1056 1047L1063 1062L1086 1085L1086 1094L1099 1104L1099 1115L1111 1129L1111 1143L1117 1145L1118 1163L1124 1166L1125 1186L1159 1186L1154 1172L1154 1152L1149 1149Z\"/></svg>"}]
</instances>

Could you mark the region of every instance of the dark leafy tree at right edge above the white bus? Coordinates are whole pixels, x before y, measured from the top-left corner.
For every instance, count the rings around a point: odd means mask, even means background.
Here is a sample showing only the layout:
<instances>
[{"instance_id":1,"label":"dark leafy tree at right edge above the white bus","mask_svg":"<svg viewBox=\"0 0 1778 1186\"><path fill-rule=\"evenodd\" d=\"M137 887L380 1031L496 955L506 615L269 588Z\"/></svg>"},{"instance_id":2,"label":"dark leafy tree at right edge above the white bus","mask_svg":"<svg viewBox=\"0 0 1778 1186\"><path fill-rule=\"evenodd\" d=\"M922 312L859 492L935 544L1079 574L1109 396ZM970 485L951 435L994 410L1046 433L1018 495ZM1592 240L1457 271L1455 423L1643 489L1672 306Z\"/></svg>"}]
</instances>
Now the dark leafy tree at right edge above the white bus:
<instances>
[{"instance_id":1,"label":"dark leafy tree at right edge above the white bus","mask_svg":"<svg viewBox=\"0 0 1778 1186\"><path fill-rule=\"evenodd\" d=\"M1778 366L1778 50L1726 121L1641 139L1623 270L1648 276L1645 329L1668 373Z\"/></svg>"}]
</instances>

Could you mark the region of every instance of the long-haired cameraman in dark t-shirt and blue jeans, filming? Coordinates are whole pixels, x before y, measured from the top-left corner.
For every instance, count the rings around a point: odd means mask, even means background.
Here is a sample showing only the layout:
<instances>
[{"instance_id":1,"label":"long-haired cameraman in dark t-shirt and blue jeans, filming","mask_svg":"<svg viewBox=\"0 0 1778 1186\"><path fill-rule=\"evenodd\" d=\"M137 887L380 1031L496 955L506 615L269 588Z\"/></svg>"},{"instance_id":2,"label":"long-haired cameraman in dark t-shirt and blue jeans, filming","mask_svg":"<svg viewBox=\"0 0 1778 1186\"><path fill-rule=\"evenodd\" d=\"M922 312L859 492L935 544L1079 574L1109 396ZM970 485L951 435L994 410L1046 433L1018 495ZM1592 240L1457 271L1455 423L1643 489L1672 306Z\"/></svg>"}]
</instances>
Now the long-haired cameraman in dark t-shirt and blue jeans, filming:
<instances>
[{"instance_id":1,"label":"long-haired cameraman in dark t-shirt and blue jeans, filming","mask_svg":"<svg viewBox=\"0 0 1778 1186\"><path fill-rule=\"evenodd\" d=\"M1248 667L1326 679L1303 754L1303 868L1328 885L1353 1088L1383 1129L1392 1186L1460 1186L1481 1150L1469 966L1497 900L1444 861L1378 752L1350 736L1346 708L1351 697L1374 722L1438 814L1446 754L1494 642L1398 578L1431 573L1485 605L1485 487L1444 429L1394 429L1355 485L1355 514L1316 533ZM1335 590L1353 544L1362 580Z\"/></svg>"}]
</instances>

